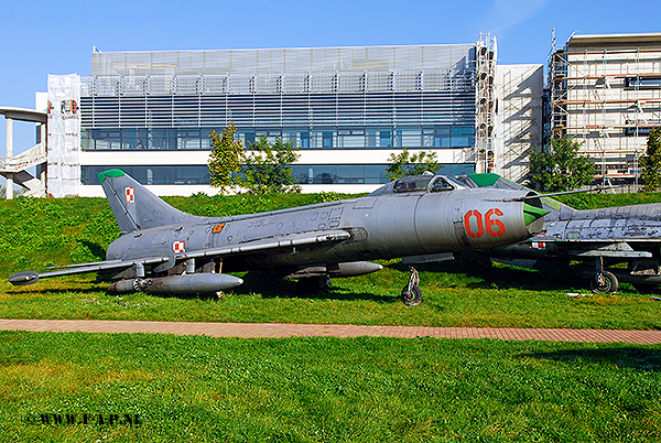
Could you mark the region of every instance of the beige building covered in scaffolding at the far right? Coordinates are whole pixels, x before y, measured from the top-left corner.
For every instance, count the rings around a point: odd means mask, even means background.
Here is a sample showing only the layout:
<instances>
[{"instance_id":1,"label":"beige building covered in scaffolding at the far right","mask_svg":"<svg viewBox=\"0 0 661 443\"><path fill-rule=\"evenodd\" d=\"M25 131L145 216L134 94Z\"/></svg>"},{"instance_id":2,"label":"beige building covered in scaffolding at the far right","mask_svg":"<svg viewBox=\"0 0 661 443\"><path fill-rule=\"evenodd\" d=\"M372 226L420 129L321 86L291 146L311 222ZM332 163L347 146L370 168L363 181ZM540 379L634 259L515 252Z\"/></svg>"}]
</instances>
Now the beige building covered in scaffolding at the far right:
<instances>
[{"instance_id":1,"label":"beige building covered in scaffolding at the far right","mask_svg":"<svg viewBox=\"0 0 661 443\"><path fill-rule=\"evenodd\" d=\"M661 33L572 35L549 65L551 137L567 134L604 182L637 182L661 127Z\"/></svg>"}]
</instances>

